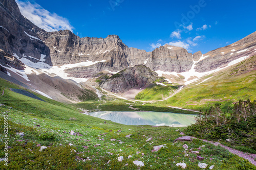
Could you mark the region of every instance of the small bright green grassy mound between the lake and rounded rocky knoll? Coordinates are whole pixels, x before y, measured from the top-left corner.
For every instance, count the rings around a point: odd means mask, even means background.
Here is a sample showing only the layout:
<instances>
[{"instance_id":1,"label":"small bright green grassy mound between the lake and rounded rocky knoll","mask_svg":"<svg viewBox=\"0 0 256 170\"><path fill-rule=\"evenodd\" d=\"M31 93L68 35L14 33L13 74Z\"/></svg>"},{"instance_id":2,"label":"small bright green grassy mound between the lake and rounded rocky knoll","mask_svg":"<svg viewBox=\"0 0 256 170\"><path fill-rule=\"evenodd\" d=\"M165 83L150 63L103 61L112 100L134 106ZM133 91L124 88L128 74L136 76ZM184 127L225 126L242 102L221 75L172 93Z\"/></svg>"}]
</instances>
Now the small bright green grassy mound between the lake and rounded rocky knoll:
<instances>
[{"instance_id":1,"label":"small bright green grassy mound between the lake and rounded rocky knoll","mask_svg":"<svg viewBox=\"0 0 256 170\"><path fill-rule=\"evenodd\" d=\"M169 84L166 85L167 86L153 84L151 86L148 86L143 91L139 92L135 96L135 99L143 101L163 100L163 98L167 98L179 88L179 86L173 86Z\"/></svg>"}]
</instances>

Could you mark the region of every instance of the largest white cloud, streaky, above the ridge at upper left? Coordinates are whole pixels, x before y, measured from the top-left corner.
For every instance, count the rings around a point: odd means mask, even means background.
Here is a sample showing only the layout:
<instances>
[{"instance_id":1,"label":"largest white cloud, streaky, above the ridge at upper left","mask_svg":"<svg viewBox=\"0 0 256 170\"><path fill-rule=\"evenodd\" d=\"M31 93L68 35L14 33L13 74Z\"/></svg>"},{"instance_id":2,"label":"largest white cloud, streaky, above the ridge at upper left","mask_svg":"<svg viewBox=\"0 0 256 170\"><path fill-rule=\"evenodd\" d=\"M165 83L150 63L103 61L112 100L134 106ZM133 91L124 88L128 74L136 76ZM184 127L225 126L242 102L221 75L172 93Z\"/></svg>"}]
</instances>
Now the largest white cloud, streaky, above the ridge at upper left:
<instances>
[{"instance_id":1,"label":"largest white cloud, streaky, above the ridge at upper left","mask_svg":"<svg viewBox=\"0 0 256 170\"><path fill-rule=\"evenodd\" d=\"M23 16L37 27L48 32L59 30L70 30L73 32L74 27L70 25L67 18L63 18L56 13L50 13L36 3L31 4L29 1L22 2L20 0L16 0L16 2Z\"/></svg>"}]
</instances>

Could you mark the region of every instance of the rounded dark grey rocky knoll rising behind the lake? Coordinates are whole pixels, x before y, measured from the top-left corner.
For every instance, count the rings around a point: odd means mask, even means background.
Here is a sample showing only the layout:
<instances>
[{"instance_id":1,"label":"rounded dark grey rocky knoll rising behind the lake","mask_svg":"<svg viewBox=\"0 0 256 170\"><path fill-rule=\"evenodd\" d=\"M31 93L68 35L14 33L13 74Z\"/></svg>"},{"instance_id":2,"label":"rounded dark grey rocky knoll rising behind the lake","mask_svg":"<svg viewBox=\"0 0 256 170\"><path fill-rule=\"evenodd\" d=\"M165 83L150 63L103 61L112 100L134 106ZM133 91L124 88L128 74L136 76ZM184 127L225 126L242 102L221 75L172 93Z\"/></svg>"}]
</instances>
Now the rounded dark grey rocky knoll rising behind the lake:
<instances>
[{"instance_id":1,"label":"rounded dark grey rocky knoll rising behind the lake","mask_svg":"<svg viewBox=\"0 0 256 170\"><path fill-rule=\"evenodd\" d=\"M115 93L123 93L134 87L144 87L157 80L157 74L144 65L124 69L103 82L100 86Z\"/></svg>"}]
</instances>

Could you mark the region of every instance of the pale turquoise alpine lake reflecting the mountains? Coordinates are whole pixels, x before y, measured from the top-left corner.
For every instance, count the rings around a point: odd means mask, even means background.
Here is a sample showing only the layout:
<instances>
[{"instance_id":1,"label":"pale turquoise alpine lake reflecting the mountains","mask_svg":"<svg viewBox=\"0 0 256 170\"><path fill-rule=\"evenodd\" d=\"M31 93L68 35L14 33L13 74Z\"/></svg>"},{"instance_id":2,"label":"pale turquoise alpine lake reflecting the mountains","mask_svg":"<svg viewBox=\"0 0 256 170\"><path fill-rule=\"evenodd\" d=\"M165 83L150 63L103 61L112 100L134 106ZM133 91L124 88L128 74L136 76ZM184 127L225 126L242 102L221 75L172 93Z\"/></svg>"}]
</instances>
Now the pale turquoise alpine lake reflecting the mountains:
<instances>
[{"instance_id":1,"label":"pale turquoise alpine lake reflecting the mountains","mask_svg":"<svg viewBox=\"0 0 256 170\"><path fill-rule=\"evenodd\" d=\"M89 115L105 120L111 120L124 125L153 125L185 127L195 124L195 114L180 114L167 112L119 112L99 111Z\"/></svg>"}]
</instances>

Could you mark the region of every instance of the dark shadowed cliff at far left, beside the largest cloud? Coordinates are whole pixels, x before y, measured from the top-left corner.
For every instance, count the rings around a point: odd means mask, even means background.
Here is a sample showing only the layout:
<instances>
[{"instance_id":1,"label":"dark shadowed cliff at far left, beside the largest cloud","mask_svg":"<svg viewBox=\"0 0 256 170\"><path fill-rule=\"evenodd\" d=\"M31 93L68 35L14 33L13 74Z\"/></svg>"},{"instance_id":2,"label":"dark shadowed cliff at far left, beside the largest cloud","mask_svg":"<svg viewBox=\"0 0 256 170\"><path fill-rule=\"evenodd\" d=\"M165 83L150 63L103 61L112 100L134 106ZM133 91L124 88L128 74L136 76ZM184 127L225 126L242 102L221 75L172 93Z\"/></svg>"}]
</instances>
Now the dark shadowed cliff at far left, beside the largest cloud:
<instances>
[{"instance_id":1,"label":"dark shadowed cliff at far left, beside the largest cloud","mask_svg":"<svg viewBox=\"0 0 256 170\"><path fill-rule=\"evenodd\" d=\"M0 48L11 55L40 60L51 65L49 48L35 32L45 32L26 19L15 0L0 0ZM30 57L29 57L30 56Z\"/></svg>"}]
</instances>

